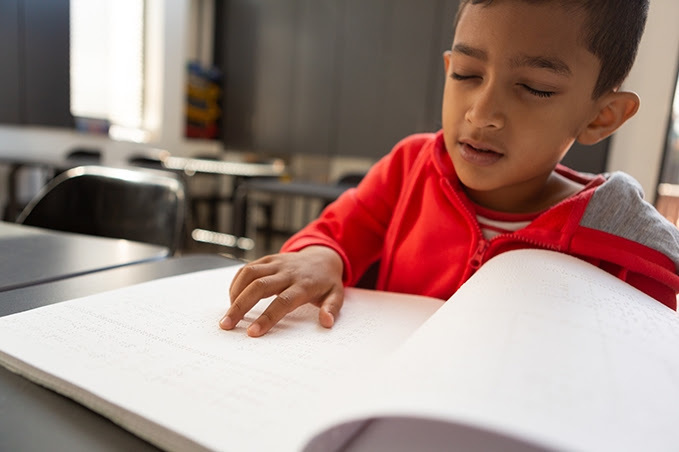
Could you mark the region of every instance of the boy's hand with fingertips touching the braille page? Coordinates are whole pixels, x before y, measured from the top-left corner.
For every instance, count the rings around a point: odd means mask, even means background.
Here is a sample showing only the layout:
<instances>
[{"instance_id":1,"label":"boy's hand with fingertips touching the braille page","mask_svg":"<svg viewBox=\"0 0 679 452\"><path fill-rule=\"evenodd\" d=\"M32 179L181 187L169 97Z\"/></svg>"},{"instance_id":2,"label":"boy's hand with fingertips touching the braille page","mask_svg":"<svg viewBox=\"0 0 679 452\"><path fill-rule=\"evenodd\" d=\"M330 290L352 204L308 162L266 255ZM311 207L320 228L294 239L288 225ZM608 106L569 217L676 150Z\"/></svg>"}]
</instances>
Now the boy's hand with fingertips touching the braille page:
<instances>
[{"instance_id":1,"label":"boy's hand with fingertips touching the braille page","mask_svg":"<svg viewBox=\"0 0 679 452\"><path fill-rule=\"evenodd\" d=\"M265 334L305 303L320 307L318 320L330 328L344 301L342 272L342 259L324 246L310 246L296 253L274 254L251 262L236 273L229 290L231 307L219 326L233 329L259 300L276 295L248 327L249 336Z\"/></svg>"}]
</instances>

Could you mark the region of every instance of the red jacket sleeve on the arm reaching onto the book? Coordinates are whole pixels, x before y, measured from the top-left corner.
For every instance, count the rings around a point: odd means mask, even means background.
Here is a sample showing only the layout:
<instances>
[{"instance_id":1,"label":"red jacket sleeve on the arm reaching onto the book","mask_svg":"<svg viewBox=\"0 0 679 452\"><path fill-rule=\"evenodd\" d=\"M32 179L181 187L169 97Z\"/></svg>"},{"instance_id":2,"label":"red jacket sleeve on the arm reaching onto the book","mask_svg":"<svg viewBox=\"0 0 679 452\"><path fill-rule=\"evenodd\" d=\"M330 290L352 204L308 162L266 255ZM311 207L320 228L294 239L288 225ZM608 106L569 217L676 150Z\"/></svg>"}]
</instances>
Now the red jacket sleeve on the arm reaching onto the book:
<instances>
[{"instance_id":1,"label":"red jacket sleeve on the arm reaching onto the book","mask_svg":"<svg viewBox=\"0 0 679 452\"><path fill-rule=\"evenodd\" d=\"M429 134L418 134L399 142L370 169L358 187L344 192L318 219L293 235L281 252L312 245L332 248L344 263L344 284L355 284L380 258L408 170L430 138Z\"/></svg>"}]
</instances>

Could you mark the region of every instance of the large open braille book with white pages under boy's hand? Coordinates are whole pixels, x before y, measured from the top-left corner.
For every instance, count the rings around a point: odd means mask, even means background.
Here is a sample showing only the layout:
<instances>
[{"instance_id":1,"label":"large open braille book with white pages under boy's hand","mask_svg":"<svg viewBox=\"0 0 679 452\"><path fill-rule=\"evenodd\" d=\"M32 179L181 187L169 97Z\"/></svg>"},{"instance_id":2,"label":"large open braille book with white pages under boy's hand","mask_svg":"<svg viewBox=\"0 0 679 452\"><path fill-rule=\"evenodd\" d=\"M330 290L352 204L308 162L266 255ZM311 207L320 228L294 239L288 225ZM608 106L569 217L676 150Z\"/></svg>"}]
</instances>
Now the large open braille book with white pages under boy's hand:
<instances>
[{"instance_id":1,"label":"large open braille book with white pages under boy's hand","mask_svg":"<svg viewBox=\"0 0 679 452\"><path fill-rule=\"evenodd\" d=\"M0 362L170 450L679 447L679 316L578 259L505 253L446 303L349 289L332 329L258 339L218 328L235 271L0 318Z\"/></svg>"}]
</instances>

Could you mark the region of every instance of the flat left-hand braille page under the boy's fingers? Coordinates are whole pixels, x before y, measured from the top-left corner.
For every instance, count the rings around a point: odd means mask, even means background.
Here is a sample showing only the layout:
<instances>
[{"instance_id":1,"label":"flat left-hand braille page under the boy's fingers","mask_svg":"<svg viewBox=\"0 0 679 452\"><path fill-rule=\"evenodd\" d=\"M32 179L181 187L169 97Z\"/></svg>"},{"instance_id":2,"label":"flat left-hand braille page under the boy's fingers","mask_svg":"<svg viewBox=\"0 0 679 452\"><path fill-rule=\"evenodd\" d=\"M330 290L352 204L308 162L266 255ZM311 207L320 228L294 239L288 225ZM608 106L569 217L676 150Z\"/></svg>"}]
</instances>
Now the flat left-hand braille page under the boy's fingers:
<instances>
[{"instance_id":1,"label":"flat left-hand braille page under the boy's fingers","mask_svg":"<svg viewBox=\"0 0 679 452\"><path fill-rule=\"evenodd\" d=\"M0 361L172 450L292 450L323 406L441 300L348 289L332 329L304 306L269 334L218 321L238 267L175 276L0 318ZM332 409L332 407L329 407ZM268 441L268 442L267 442Z\"/></svg>"}]
</instances>

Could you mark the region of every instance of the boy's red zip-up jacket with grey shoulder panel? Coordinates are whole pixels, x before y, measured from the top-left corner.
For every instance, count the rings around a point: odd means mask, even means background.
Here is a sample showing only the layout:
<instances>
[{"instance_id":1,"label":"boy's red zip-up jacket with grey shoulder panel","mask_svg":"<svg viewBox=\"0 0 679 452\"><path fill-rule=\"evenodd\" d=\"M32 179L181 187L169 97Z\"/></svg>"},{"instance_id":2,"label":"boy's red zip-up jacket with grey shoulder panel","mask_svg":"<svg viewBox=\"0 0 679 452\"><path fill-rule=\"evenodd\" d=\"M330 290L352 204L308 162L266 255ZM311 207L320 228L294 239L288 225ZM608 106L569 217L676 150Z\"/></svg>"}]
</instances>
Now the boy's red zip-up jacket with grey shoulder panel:
<instances>
[{"instance_id":1,"label":"boy's red zip-up jacket with grey shoulder panel","mask_svg":"<svg viewBox=\"0 0 679 452\"><path fill-rule=\"evenodd\" d=\"M601 267L676 309L679 230L643 201L639 185L623 173L557 171L585 189L527 227L486 240L441 133L413 135L282 251L334 249L344 261L346 285L379 260L377 289L448 299L493 256L550 249Z\"/></svg>"}]
</instances>

